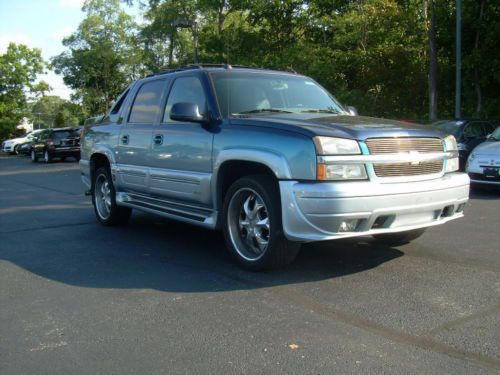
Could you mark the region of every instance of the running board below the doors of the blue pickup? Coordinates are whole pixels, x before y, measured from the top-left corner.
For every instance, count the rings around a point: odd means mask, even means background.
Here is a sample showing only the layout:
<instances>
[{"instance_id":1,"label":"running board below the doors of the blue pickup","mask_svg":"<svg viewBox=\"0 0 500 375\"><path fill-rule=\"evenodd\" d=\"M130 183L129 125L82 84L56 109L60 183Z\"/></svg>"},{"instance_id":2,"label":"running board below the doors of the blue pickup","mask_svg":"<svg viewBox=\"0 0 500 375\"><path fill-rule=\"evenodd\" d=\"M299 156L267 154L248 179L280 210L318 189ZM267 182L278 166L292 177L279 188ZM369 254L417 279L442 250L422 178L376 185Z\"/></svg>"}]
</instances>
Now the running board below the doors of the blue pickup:
<instances>
[{"instance_id":1,"label":"running board below the doors of the blue pickup","mask_svg":"<svg viewBox=\"0 0 500 375\"><path fill-rule=\"evenodd\" d=\"M154 198L137 193L116 193L119 206L157 214L169 219L180 220L207 228L215 228L217 211L195 204L180 203Z\"/></svg>"}]
</instances>

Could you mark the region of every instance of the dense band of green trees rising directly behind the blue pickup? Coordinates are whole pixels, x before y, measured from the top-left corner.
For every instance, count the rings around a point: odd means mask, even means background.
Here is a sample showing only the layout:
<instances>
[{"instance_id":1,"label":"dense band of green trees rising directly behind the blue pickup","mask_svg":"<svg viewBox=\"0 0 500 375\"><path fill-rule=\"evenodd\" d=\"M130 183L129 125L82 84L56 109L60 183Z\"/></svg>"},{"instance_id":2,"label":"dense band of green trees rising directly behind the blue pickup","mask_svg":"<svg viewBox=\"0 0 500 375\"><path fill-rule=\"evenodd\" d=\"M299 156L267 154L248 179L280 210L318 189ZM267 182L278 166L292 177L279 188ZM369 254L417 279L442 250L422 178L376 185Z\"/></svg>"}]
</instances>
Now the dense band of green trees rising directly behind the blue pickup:
<instances>
[{"instance_id":1,"label":"dense band of green trees rising directly behind the blue pickup","mask_svg":"<svg viewBox=\"0 0 500 375\"><path fill-rule=\"evenodd\" d=\"M127 0L126 3L133 3ZM136 0L137 2L137 0ZM193 61L294 69L362 114L450 117L455 95L455 0L143 0L135 25L118 0L88 0L87 18L53 60L92 114L145 71ZM434 15L434 23L431 23ZM464 1L463 112L499 117L500 4ZM432 26L432 32L430 32ZM435 40L429 43L429 36ZM432 45L436 53L429 53ZM434 67L429 77L429 67ZM435 74L434 74L435 73Z\"/></svg>"}]
</instances>

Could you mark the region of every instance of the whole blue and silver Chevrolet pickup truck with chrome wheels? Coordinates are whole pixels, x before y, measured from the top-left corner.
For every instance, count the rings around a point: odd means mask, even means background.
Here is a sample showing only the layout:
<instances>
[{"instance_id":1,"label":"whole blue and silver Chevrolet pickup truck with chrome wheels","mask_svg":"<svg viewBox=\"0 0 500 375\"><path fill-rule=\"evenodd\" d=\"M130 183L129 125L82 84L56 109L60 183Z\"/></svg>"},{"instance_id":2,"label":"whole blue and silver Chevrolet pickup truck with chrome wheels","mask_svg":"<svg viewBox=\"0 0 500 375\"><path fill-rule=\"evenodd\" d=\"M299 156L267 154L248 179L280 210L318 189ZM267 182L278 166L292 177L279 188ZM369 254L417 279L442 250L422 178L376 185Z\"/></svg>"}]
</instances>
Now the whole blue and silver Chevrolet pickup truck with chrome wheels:
<instances>
[{"instance_id":1,"label":"whole blue and silver Chevrolet pickup truck with chrome wheels","mask_svg":"<svg viewBox=\"0 0 500 375\"><path fill-rule=\"evenodd\" d=\"M262 270L304 242L398 245L462 217L457 155L453 136L355 116L308 77L192 65L130 85L85 127L80 167L102 224L138 209L222 229Z\"/></svg>"}]
</instances>

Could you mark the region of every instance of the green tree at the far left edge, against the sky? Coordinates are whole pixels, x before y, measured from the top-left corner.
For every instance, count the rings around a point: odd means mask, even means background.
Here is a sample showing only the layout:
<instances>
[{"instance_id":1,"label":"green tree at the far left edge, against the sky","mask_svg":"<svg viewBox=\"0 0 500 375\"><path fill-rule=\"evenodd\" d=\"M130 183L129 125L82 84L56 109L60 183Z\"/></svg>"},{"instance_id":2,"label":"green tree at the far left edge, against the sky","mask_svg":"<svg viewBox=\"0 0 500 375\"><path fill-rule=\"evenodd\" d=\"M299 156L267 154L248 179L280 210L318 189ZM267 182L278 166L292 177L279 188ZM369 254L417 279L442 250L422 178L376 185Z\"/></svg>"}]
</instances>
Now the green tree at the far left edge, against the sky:
<instances>
[{"instance_id":1,"label":"green tree at the far left edge, against the sky","mask_svg":"<svg viewBox=\"0 0 500 375\"><path fill-rule=\"evenodd\" d=\"M44 82L37 82L45 62L38 49L10 43L0 55L0 138L8 138L16 125L26 116L28 100L49 90Z\"/></svg>"}]
</instances>

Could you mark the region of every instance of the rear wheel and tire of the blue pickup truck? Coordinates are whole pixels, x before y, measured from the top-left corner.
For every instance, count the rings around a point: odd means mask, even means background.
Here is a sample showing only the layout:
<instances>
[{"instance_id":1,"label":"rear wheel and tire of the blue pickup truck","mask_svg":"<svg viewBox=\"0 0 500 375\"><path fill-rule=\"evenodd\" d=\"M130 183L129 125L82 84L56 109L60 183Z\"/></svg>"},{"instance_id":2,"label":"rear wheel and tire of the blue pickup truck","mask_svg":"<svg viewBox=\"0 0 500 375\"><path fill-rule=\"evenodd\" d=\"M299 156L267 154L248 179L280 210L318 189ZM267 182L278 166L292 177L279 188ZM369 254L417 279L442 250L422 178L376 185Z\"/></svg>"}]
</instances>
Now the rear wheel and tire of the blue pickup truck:
<instances>
[{"instance_id":1,"label":"rear wheel and tire of the blue pickup truck","mask_svg":"<svg viewBox=\"0 0 500 375\"><path fill-rule=\"evenodd\" d=\"M92 204L97 220L105 226L128 223L132 209L116 204L116 191L108 168L99 168L95 172L92 186Z\"/></svg>"}]
</instances>

